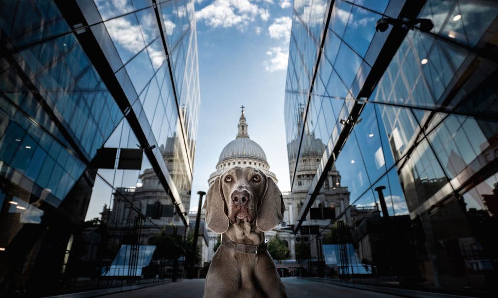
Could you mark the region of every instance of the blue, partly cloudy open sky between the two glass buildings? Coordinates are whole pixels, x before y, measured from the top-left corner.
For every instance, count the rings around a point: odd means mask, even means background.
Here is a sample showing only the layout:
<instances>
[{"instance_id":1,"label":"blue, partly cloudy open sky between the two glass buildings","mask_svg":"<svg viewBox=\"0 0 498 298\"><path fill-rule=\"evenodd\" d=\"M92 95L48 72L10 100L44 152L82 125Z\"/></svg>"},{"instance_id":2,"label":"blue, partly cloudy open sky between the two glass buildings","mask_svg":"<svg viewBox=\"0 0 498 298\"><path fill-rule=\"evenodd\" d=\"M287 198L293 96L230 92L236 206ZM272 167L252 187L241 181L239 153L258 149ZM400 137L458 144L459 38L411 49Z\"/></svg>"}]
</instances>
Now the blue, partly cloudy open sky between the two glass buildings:
<instances>
[{"instance_id":1,"label":"blue, partly cloudy open sky between the two glass buildings","mask_svg":"<svg viewBox=\"0 0 498 298\"><path fill-rule=\"evenodd\" d=\"M190 210L207 191L221 150L237 135L246 106L249 137L290 190L283 102L291 0L196 0L201 109Z\"/></svg>"}]
</instances>

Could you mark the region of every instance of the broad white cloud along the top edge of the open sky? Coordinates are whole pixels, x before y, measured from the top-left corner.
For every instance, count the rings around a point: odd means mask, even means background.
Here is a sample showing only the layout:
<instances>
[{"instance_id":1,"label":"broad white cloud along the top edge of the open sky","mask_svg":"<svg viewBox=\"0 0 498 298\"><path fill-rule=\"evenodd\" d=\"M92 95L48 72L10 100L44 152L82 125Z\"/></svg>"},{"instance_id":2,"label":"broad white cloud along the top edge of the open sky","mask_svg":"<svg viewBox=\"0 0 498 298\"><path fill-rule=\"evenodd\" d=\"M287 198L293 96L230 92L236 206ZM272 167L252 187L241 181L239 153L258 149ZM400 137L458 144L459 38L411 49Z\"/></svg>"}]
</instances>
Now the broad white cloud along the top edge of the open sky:
<instances>
[{"instance_id":1,"label":"broad white cloud along the top edge of the open sky","mask_svg":"<svg viewBox=\"0 0 498 298\"><path fill-rule=\"evenodd\" d=\"M213 3L196 11L198 21L213 28L229 28L236 26L245 30L256 17L266 21L270 17L268 9L260 8L249 0L214 0Z\"/></svg>"}]
</instances>

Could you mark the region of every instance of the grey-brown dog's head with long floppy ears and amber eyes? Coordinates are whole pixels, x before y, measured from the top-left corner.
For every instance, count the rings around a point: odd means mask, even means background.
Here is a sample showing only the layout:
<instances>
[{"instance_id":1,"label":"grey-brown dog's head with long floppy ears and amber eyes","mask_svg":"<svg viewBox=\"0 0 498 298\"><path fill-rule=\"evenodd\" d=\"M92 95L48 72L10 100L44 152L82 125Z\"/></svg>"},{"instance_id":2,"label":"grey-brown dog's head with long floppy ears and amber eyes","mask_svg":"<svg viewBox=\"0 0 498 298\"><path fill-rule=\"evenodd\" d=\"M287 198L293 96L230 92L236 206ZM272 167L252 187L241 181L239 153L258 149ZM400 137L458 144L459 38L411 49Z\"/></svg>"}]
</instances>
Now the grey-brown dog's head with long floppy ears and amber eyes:
<instances>
[{"instance_id":1,"label":"grey-brown dog's head with long floppy ears and amber eyes","mask_svg":"<svg viewBox=\"0 0 498 298\"><path fill-rule=\"evenodd\" d=\"M217 177L204 203L206 224L224 233L238 220L255 221L266 232L283 219L282 193L271 177L253 167L232 167Z\"/></svg>"}]
</instances>

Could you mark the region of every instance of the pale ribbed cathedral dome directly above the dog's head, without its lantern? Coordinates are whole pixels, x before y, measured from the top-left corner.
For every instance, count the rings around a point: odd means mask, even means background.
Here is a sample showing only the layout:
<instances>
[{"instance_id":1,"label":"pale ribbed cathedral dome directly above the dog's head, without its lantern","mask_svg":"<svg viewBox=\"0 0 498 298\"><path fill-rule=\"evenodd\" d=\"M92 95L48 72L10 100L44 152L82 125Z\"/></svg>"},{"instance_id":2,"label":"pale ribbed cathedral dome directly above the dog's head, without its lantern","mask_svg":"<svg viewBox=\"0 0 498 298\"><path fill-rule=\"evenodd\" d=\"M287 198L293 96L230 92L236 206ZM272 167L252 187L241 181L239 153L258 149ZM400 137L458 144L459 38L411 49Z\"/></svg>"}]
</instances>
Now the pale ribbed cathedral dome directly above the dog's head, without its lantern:
<instances>
[{"instance_id":1,"label":"pale ribbed cathedral dome directly above the dog's head, without its lantern","mask_svg":"<svg viewBox=\"0 0 498 298\"><path fill-rule=\"evenodd\" d=\"M225 146L225 148L221 151L218 163L232 158L251 158L268 163L261 146L249 138L237 138L228 143L227 146Z\"/></svg>"}]
</instances>

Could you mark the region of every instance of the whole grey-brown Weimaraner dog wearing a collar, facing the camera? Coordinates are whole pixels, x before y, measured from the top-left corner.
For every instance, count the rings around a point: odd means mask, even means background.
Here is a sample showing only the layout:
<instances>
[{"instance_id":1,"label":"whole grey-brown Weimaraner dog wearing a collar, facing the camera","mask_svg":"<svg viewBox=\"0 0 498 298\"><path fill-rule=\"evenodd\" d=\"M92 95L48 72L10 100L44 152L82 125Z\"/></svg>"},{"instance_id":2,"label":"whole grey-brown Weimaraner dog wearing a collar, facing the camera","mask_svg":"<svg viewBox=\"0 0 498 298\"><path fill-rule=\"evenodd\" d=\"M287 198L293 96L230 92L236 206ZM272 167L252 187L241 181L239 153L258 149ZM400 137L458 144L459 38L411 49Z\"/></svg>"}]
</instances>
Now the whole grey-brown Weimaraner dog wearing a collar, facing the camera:
<instances>
[{"instance_id":1,"label":"whole grey-brown Weimaraner dog wearing a collar, facing the camera","mask_svg":"<svg viewBox=\"0 0 498 298\"><path fill-rule=\"evenodd\" d=\"M204 297L287 297L264 243L264 232L280 224L285 211L273 179L252 167L232 167L211 185L204 209L208 227L222 234Z\"/></svg>"}]
</instances>

